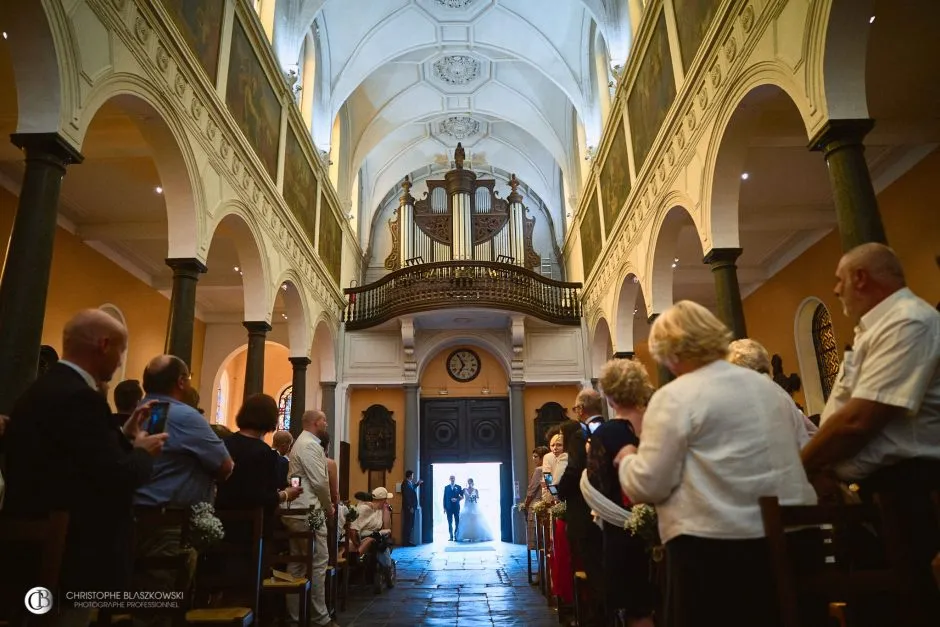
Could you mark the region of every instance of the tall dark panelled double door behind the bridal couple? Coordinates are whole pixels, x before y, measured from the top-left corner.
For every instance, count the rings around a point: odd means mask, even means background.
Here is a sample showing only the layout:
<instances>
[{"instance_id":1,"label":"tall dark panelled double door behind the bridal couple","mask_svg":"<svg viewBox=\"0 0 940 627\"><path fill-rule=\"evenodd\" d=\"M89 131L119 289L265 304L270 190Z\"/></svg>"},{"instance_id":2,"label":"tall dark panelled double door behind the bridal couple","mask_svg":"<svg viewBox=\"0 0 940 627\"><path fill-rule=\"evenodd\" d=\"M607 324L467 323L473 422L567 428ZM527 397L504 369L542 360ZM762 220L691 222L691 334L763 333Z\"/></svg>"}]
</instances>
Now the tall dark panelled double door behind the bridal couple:
<instances>
[{"instance_id":1,"label":"tall dark panelled double door behind the bridal couple","mask_svg":"<svg viewBox=\"0 0 940 627\"><path fill-rule=\"evenodd\" d=\"M446 477L433 464L500 463L500 537L512 542L512 449L508 398L448 398L421 402L422 541L433 542Z\"/></svg>"}]
</instances>

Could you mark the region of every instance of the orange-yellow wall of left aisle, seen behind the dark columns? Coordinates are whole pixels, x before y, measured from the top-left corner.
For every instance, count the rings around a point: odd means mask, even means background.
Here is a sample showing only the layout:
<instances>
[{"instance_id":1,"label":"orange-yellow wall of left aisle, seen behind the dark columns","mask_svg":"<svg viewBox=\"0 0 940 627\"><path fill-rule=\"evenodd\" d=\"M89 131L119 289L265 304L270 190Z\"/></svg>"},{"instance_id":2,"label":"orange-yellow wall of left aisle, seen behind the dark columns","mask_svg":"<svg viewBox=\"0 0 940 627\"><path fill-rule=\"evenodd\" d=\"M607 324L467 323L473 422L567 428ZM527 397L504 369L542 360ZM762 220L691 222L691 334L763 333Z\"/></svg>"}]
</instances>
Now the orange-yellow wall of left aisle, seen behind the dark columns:
<instances>
[{"instance_id":1,"label":"orange-yellow wall of left aisle, seen behind the dark columns","mask_svg":"<svg viewBox=\"0 0 940 627\"><path fill-rule=\"evenodd\" d=\"M0 188L0 241L6 248L13 229L17 198ZM159 292L85 246L68 231L57 228L42 342L62 354L62 327L82 309L109 303L127 322L129 334L125 377L140 379L147 362L163 353L170 301ZM202 376L206 325L196 320L193 336L193 382ZM214 374L214 373L211 373ZM116 384L114 381L113 384ZM113 387L112 384L112 387Z\"/></svg>"}]
</instances>

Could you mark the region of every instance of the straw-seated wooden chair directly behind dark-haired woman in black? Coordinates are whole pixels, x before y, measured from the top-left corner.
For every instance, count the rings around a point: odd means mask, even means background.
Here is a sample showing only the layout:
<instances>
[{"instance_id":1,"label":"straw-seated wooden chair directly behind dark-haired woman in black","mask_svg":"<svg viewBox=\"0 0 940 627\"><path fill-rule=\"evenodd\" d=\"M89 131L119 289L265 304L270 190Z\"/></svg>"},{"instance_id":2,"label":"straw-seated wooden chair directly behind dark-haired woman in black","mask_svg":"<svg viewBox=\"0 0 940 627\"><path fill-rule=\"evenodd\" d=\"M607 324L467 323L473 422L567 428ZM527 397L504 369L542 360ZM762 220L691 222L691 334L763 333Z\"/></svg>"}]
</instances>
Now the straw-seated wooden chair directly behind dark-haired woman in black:
<instances>
[{"instance_id":1,"label":"straw-seated wooden chair directly behind dark-haired woman in black","mask_svg":"<svg viewBox=\"0 0 940 627\"><path fill-rule=\"evenodd\" d=\"M264 513L253 510L218 510L216 512L226 530L246 526L250 529L249 546L239 542L240 538L226 537L200 551L200 567L196 572L194 596L196 603L206 604L204 599L222 593L238 598L244 603L229 607L202 607L186 612L186 623L190 625L238 625L247 627L258 615L258 602L261 592L261 556L262 526ZM228 560L243 560L248 571L231 568L205 568L218 560L225 564Z\"/></svg>"}]
</instances>

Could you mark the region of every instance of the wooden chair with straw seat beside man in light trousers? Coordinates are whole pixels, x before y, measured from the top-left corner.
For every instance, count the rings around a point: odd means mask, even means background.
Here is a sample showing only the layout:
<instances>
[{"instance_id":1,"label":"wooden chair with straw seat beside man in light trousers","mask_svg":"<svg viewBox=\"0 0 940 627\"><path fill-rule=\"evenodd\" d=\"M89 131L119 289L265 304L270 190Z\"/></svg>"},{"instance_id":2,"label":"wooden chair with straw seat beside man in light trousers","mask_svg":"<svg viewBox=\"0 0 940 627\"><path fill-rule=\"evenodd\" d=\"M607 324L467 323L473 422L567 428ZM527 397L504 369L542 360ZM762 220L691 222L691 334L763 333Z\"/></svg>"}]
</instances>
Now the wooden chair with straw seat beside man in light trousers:
<instances>
[{"instance_id":1,"label":"wooden chair with straw seat beside man in light trousers","mask_svg":"<svg viewBox=\"0 0 940 627\"><path fill-rule=\"evenodd\" d=\"M306 517L312 507L306 509L281 509L278 510L278 517L283 516L304 516ZM261 581L261 592L266 596L281 596L296 594L300 597L299 613L300 624L307 627L310 624L310 593L312 589L311 575L313 573L313 547L316 542L316 531L292 531L281 521L276 522L277 527L269 534L270 542L264 545L263 558L261 563L262 573L265 578ZM303 542L307 550L305 553L293 553L291 540ZM287 544L287 553L280 553L282 545ZM284 576L273 574L277 570L281 573L286 570L290 564L303 564L304 576L294 579L286 579ZM266 576L272 573L270 577ZM289 576L289 575L288 575Z\"/></svg>"}]
</instances>

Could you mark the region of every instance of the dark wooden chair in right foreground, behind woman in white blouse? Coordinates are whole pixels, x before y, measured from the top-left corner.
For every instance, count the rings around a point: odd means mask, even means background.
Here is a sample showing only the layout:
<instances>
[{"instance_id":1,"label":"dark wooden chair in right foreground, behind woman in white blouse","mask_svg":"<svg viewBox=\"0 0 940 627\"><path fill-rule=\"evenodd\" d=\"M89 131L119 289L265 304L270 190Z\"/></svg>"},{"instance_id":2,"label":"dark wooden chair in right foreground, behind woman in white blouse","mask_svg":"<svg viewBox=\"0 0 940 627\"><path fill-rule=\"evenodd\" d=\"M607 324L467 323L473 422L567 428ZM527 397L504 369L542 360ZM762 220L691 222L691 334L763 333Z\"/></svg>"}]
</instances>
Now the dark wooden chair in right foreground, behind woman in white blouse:
<instances>
[{"instance_id":1,"label":"dark wooden chair in right foreground, behind woman in white blouse","mask_svg":"<svg viewBox=\"0 0 940 627\"><path fill-rule=\"evenodd\" d=\"M784 627L802 626L801 600L804 606L809 598L826 602L833 618L851 625L858 602L867 595L905 595L902 589L904 576L898 568L857 565L859 546L856 532L864 527L880 526L880 517L873 505L781 506L776 497L762 497L760 507ZM827 545L827 552L831 555L823 559L820 551L818 559L804 569L797 564L802 551L794 550L791 541L795 536L788 539L787 530L824 526L832 529L831 545ZM820 533L820 546L822 542ZM889 553L893 549L892 544L891 540L885 542ZM812 550L815 547L803 547L804 550L807 548ZM902 613L905 612L902 609ZM898 625L911 624L903 617L898 618Z\"/></svg>"}]
</instances>

